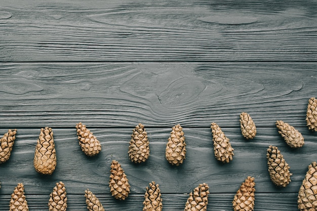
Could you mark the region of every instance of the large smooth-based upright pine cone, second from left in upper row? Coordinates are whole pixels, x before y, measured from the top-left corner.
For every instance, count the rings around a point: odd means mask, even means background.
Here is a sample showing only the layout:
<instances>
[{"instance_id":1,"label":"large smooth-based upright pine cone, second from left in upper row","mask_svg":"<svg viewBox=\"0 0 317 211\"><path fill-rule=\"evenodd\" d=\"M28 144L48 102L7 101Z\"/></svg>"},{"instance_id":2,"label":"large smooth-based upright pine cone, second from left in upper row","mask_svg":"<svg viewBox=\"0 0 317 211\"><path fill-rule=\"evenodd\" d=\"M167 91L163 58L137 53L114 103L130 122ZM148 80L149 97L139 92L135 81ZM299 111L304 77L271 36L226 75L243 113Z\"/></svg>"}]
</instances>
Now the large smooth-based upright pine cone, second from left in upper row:
<instances>
[{"instance_id":1,"label":"large smooth-based upright pine cone, second from left in upper row","mask_svg":"<svg viewBox=\"0 0 317 211\"><path fill-rule=\"evenodd\" d=\"M34 168L41 174L52 174L56 168L56 150L52 128L41 128L34 153Z\"/></svg>"}]
</instances>

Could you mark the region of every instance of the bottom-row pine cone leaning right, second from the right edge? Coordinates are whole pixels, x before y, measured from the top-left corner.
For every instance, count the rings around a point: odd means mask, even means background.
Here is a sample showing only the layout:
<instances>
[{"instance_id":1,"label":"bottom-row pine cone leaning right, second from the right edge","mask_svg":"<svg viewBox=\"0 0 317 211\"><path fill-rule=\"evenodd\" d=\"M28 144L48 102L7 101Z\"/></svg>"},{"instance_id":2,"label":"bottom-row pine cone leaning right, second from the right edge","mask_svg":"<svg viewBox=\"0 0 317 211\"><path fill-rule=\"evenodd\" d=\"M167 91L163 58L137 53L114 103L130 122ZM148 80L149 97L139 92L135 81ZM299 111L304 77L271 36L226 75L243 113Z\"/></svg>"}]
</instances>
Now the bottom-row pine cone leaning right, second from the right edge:
<instances>
[{"instance_id":1,"label":"bottom-row pine cone leaning right, second from the right edge","mask_svg":"<svg viewBox=\"0 0 317 211\"><path fill-rule=\"evenodd\" d=\"M235 211L253 211L254 210L254 177L248 177L234 195L232 205Z\"/></svg>"}]
</instances>

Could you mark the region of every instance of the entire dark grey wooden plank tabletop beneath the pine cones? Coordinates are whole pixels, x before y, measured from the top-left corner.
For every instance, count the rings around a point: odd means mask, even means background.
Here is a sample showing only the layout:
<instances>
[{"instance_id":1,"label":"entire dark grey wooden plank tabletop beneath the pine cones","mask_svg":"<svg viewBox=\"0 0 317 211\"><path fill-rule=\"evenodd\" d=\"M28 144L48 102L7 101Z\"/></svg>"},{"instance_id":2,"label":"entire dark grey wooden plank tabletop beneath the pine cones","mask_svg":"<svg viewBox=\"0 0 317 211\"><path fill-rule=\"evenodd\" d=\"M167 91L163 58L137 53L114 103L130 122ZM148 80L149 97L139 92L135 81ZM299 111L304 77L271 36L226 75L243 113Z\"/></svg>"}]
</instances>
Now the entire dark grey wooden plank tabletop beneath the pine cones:
<instances>
[{"instance_id":1,"label":"entire dark grey wooden plank tabletop beneath the pine cones","mask_svg":"<svg viewBox=\"0 0 317 211\"><path fill-rule=\"evenodd\" d=\"M87 210L89 188L106 210L142 210L145 188L160 185L164 210L183 210L201 183L210 186L208 210L232 210L248 176L255 178L255 210L297 210L299 187L317 161L317 133L306 127L308 99L317 96L316 1L5 1L0 0L0 134L17 129L8 162L0 165L0 210L8 210L18 183L30 210L48 210L59 181L67 210ZM246 140L239 115L247 112L257 135ZM298 129L291 149L276 120ZM83 122L102 151L86 156L75 125ZM210 124L234 148L233 161L214 156ZM132 129L142 123L149 159L129 160ZM171 128L180 124L186 160L165 158ZM34 170L41 128L51 127L57 167ZM278 146L291 183L270 181L266 149ZM131 185L125 201L108 187L112 160Z\"/></svg>"}]
</instances>

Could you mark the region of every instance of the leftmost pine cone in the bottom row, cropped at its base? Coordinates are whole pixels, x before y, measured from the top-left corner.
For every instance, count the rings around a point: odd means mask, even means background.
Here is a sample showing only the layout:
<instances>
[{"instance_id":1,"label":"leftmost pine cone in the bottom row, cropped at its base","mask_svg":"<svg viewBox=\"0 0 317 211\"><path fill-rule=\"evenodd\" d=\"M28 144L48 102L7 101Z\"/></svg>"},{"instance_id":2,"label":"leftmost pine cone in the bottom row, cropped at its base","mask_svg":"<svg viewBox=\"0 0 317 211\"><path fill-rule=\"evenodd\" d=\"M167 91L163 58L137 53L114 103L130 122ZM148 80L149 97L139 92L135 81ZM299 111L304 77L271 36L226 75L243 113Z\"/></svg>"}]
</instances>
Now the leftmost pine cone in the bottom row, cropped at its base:
<instances>
[{"instance_id":1,"label":"leftmost pine cone in the bottom row, cropped at its base","mask_svg":"<svg viewBox=\"0 0 317 211\"><path fill-rule=\"evenodd\" d=\"M19 183L11 194L9 211L28 211L27 201L24 195L24 186Z\"/></svg>"}]
</instances>

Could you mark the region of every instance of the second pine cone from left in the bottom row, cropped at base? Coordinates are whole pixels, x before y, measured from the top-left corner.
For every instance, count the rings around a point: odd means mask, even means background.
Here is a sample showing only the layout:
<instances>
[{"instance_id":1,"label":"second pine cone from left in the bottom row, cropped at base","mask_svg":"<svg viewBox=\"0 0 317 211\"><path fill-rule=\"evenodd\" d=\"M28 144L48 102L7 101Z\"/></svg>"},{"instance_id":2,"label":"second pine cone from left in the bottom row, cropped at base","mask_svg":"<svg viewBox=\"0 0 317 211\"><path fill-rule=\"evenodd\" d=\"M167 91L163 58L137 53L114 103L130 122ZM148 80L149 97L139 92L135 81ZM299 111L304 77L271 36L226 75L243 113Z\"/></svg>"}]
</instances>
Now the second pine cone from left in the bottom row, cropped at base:
<instances>
[{"instance_id":1,"label":"second pine cone from left in the bottom row, cropped at base","mask_svg":"<svg viewBox=\"0 0 317 211\"><path fill-rule=\"evenodd\" d=\"M50 211L66 211L67 197L66 188L63 182L56 183L50 194L49 210Z\"/></svg>"}]
</instances>

